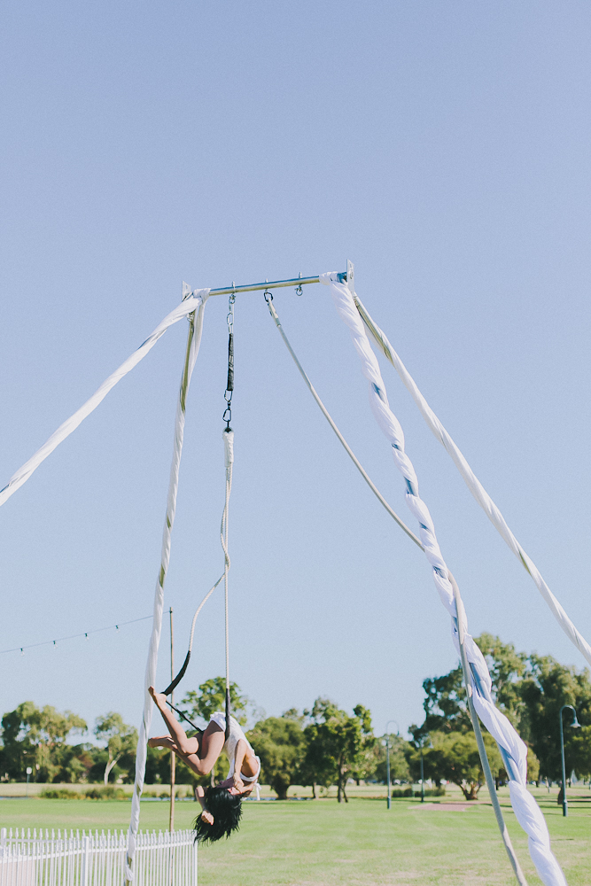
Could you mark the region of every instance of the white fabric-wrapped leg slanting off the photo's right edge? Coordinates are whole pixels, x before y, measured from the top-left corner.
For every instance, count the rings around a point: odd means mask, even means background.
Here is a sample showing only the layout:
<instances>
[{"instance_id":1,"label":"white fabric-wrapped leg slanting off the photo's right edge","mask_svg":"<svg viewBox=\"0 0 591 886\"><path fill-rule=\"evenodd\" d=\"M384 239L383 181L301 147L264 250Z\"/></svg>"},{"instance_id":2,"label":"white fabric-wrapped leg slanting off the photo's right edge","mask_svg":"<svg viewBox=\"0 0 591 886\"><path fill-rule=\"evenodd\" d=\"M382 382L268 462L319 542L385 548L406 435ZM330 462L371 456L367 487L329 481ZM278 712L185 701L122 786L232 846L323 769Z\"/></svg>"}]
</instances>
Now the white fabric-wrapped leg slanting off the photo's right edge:
<instances>
[{"instance_id":1,"label":"white fabric-wrapped leg slanting off the photo's right edge","mask_svg":"<svg viewBox=\"0 0 591 886\"><path fill-rule=\"evenodd\" d=\"M517 559L525 566L525 569L533 578L536 587L540 591L540 594L542 595L544 600L548 603L548 607L552 612L552 615L554 616L554 618L556 618L556 621L562 627L566 636L569 638L570 641L572 641L577 649L579 649L579 652L583 655L583 657L587 659L587 663L591 664L591 646L589 646L583 635L579 633L577 628L573 625L571 618L568 617L561 604L556 600L555 595L552 593L544 579L542 579L537 566L535 565L535 563L533 563L530 557L527 556L525 550L521 547L515 535L509 529L509 526L505 522L505 518L502 516L501 511L497 508L490 495L486 492L484 486L482 486L482 484L474 474L473 470L470 468L470 465L464 458L462 452L455 445L454 440L449 436L446 429L439 421L439 418L435 415L435 413L432 411L432 408L424 399L423 394L416 386L414 378L410 375L408 369L400 360L400 356L394 351L393 346L385 337L385 333L376 325L376 323L373 322L367 310L365 309L365 307L363 307L361 300L358 299L356 295L354 296L354 302L373 338L375 338L377 344L382 348L385 356L392 363L394 369L396 369L396 371L398 372L402 383L407 388L413 400L415 400L416 405L419 408L421 415L424 417L427 426L431 429L435 438L439 440L439 443L441 443L441 445L445 447L447 453L451 456L453 462L455 463L455 467L457 468L457 470L459 470L463 478L464 483L470 489L470 493L474 496L476 501L478 501L478 504L484 510L486 517L488 517L488 519L494 525L494 528L497 530L497 532L499 532L502 539L507 543L515 556L517 556Z\"/></svg>"}]
</instances>

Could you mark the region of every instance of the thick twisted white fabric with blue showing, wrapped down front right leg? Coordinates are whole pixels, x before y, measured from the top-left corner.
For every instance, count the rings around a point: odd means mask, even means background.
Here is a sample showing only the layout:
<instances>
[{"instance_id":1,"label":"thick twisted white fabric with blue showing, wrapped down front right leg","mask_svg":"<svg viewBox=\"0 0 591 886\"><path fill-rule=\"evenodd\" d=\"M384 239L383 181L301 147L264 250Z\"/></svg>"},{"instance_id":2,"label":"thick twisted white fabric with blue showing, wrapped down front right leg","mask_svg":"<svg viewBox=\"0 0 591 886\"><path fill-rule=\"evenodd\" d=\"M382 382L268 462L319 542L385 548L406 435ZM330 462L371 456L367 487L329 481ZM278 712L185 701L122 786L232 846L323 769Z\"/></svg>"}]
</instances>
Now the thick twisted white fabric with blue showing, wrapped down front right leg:
<instances>
[{"instance_id":1,"label":"thick twisted white fabric with blue showing, wrapped down front right leg","mask_svg":"<svg viewBox=\"0 0 591 886\"><path fill-rule=\"evenodd\" d=\"M485 658L467 631L465 613L455 608L454 592L447 577L447 565L435 535L429 509L418 494L418 480L412 462L404 450L404 433L400 423L388 405L385 385L380 373L377 357L371 349L362 318L355 307L353 294L346 284L339 283L338 274L330 272L320 276L320 282L330 286L330 295L338 315L346 323L353 339L355 350L362 361L362 373L369 382L369 404L371 410L393 447L394 462L405 479L408 509L419 524L419 535L424 553L432 567L433 580L452 618L452 637L455 649L460 652L457 619L462 618L465 633L464 649L470 665L472 698L479 719L493 735L502 752L509 774L511 804L521 827L528 835L529 851L533 863L546 886L566 886L564 874L550 849L550 838L546 821L540 807L526 788L527 748L509 720L494 706L491 690L492 680Z\"/></svg>"}]
</instances>

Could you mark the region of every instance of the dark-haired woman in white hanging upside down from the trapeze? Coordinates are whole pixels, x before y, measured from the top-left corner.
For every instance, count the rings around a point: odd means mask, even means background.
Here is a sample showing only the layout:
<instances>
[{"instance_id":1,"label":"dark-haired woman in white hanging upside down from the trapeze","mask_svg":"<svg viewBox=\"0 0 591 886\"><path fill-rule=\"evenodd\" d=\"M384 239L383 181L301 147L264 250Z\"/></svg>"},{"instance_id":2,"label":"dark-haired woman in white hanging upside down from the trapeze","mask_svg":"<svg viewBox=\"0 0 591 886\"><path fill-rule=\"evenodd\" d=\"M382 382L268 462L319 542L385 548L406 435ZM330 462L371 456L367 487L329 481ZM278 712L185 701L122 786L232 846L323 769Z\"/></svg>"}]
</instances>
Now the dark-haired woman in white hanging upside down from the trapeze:
<instances>
[{"instance_id":1,"label":"dark-haired woman in white hanging upside down from the trapeze","mask_svg":"<svg viewBox=\"0 0 591 886\"><path fill-rule=\"evenodd\" d=\"M255 757L253 748L246 739L240 724L229 718L229 739L225 742L226 717L216 711L207 724L205 732L191 738L167 708L167 696L150 687L150 695L167 724L170 734L151 738L151 748L174 750L194 773L207 775L214 768L215 761L226 751L229 760L229 773L224 781L214 788L205 790L198 785L195 795L202 812L195 822L199 843L214 843L222 836L229 836L240 824L242 799L248 797L261 773L261 760ZM224 743L225 742L225 743Z\"/></svg>"}]
</instances>

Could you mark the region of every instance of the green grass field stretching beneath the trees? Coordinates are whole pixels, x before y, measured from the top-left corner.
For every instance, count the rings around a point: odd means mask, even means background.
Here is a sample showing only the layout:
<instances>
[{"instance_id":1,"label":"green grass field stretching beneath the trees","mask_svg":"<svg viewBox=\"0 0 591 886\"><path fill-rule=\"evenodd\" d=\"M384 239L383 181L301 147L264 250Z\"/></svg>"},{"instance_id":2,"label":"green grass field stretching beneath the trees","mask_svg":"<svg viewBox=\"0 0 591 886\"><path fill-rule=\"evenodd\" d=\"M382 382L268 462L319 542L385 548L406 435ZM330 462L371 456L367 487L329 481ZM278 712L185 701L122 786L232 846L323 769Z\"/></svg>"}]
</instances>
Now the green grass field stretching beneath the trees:
<instances>
[{"instance_id":1,"label":"green grass field stretching beneath the trees","mask_svg":"<svg viewBox=\"0 0 591 886\"><path fill-rule=\"evenodd\" d=\"M383 790L383 788L382 788ZM375 791L374 791L375 792ZM419 800L385 801L369 789L354 789L348 804L333 798L245 803L243 826L227 843L199 852L200 886L369 886L434 883L440 886L514 884L489 804L460 804L458 791ZM534 790L548 820L553 848L570 886L591 882L591 797L572 792L567 819L556 791ZM361 795L361 796L360 796ZM531 886L533 873L525 835L500 792L509 833ZM455 802L454 810L440 804ZM176 805L176 827L191 827L196 804ZM127 828L126 801L0 800L0 826L24 828ZM168 804L142 804L144 829L167 828Z\"/></svg>"}]
</instances>

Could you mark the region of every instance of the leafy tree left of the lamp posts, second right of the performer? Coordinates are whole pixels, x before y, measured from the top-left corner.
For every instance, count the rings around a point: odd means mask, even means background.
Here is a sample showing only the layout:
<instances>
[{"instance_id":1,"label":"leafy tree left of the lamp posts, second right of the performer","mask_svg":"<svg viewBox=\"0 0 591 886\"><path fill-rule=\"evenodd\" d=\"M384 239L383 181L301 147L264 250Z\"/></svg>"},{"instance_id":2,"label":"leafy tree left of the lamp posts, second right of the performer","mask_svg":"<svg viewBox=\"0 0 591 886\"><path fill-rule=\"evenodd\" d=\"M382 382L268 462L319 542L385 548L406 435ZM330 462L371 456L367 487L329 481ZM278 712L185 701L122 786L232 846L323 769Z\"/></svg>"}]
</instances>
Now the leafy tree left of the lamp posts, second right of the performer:
<instances>
[{"instance_id":1,"label":"leafy tree left of the lamp posts, second right of the performer","mask_svg":"<svg viewBox=\"0 0 591 886\"><path fill-rule=\"evenodd\" d=\"M368 743L374 742L369 711L358 704L350 717L328 699L317 698L309 716L312 722L304 729L307 748L302 771L313 778L313 784L328 787L337 781L338 802L345 799L348 803L346 780L362 764Z\"/></svg>"}]
</instances>

